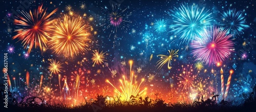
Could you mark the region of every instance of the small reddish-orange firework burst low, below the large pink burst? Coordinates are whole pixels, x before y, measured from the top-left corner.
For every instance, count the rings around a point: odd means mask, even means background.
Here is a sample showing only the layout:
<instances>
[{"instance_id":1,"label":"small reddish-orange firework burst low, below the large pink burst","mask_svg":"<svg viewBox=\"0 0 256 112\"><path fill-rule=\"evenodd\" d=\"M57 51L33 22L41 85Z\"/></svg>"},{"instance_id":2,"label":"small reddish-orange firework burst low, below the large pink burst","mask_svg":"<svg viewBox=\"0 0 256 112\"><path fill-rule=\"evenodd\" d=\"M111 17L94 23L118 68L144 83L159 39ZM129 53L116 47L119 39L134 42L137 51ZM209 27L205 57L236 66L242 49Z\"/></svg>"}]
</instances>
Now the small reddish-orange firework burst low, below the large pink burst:
<instances>
[{"instance_id":1,"label":"small reddish-orange firework burst low, below the large pink burst","mask_svg":"<svg viewBox=\"0 0 256 112\"><path fill-rule=\"evenodd\" d=\"M182 74L177 76L179 80L179 86L183 86L182 90L186 89L186 91L189 91L190 87L194 86L194 80L196 76L192 74L192 66L189 68L189 65L187 65L187 68L183 68L182 65L182 70Z\"/></svg>"}]
</instances>

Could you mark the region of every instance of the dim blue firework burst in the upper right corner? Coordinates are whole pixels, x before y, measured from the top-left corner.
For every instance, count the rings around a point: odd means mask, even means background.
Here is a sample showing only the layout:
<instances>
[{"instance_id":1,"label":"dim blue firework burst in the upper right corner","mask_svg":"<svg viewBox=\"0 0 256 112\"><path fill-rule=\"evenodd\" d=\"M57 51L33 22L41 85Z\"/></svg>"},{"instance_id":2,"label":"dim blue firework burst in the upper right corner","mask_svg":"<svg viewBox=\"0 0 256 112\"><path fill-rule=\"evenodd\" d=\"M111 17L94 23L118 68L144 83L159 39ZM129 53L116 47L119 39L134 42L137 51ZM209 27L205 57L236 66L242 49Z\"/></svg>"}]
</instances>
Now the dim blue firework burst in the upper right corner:
<instances>
[{"instance_id":1,"label":"dim blue firework burst in the upper right corner","mask_svg":"<svg viewBox=\"0 0 256 112\"><path fill-rule=\"evenodd\" d=\"M227 33L233 34L234 37L240 36L243 30L249 28L245 23L245 16L242 11L229 9L222 13L223 18L219 20L220 25L228 30Z\"/></svg>"}]
</instances>

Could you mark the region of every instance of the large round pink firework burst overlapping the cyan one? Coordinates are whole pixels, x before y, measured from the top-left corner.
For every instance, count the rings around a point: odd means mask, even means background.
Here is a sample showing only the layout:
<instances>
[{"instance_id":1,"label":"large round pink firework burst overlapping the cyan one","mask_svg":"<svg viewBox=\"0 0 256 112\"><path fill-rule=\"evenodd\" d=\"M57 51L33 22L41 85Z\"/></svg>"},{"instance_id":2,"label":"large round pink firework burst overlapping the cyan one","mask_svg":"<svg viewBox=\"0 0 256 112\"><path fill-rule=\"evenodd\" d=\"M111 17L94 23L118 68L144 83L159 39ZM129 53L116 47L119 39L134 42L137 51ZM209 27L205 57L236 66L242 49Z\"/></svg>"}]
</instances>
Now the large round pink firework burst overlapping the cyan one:
<instances>
[{"instance_id":1,"label":"large round pink firework burst overlapping the cyan one","mask_svg":"<svg viewBox=\"0 0 256 112\"><path fill-rule=\"evenodd\" d=\"M222 62L233 52L231 37L231 34L227 34L227 30L207 27L201 31L200 36L196 36L196 40L193 40L191 48L195 50L192 51L192 54L209 65Z\"/></svg>"}]
</instances>

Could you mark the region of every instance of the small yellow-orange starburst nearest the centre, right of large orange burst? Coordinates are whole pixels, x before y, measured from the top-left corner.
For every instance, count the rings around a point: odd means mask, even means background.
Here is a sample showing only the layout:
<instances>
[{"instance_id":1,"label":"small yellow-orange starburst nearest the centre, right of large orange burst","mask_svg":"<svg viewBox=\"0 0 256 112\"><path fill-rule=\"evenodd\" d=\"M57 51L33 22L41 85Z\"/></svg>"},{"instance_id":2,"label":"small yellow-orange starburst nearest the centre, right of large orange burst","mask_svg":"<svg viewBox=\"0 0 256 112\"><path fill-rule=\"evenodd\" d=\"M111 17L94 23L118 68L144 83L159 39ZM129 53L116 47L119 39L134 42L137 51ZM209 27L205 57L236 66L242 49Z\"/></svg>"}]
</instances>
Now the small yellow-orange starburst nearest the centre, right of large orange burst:
<instances>
[{"instance_id":1,"label":"small yellow-orange starburst nearest the centre, right of large orange burst","mask_svg":"<svg viewBox=\"0 0 256 112\"><path fill-rule=\"evenodd\" d=\"M104 61L106 61L105 60L105 53L106 52L104 52L103 53L103 51L101 51L100 53L99 53L99 51L93 51L94 53L93 53L93 57L92 57L92 60L93 60L93 66L95 66L95 64L102 64Z\"/></svg>"}]
</instances>

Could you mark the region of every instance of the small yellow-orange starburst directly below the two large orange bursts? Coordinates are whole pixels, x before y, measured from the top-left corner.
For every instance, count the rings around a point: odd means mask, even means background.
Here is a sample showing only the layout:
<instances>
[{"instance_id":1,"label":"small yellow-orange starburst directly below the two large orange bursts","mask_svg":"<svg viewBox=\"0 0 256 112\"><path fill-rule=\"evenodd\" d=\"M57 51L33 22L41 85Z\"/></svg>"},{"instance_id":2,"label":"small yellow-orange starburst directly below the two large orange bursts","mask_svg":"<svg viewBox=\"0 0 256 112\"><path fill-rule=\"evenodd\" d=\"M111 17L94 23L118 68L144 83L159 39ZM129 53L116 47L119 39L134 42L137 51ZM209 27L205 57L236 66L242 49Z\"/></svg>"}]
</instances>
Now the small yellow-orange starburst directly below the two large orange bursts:
<instances>
[{"instance_id":1,"label":"small yellow-orange starburst directly below the two large orange bursts","mask_svg":"<svg viewBox=\"0 0 256 112\"><path fill-rule=\"evenodd\" d=\"M60 63L59 61L56 62L56 60L50 60L50 66L48 67L48 69L50 70L51 74L58 74L61 70L61 68L63 68L61 66L62 63Z\"/></svg>"}]
</instances>

